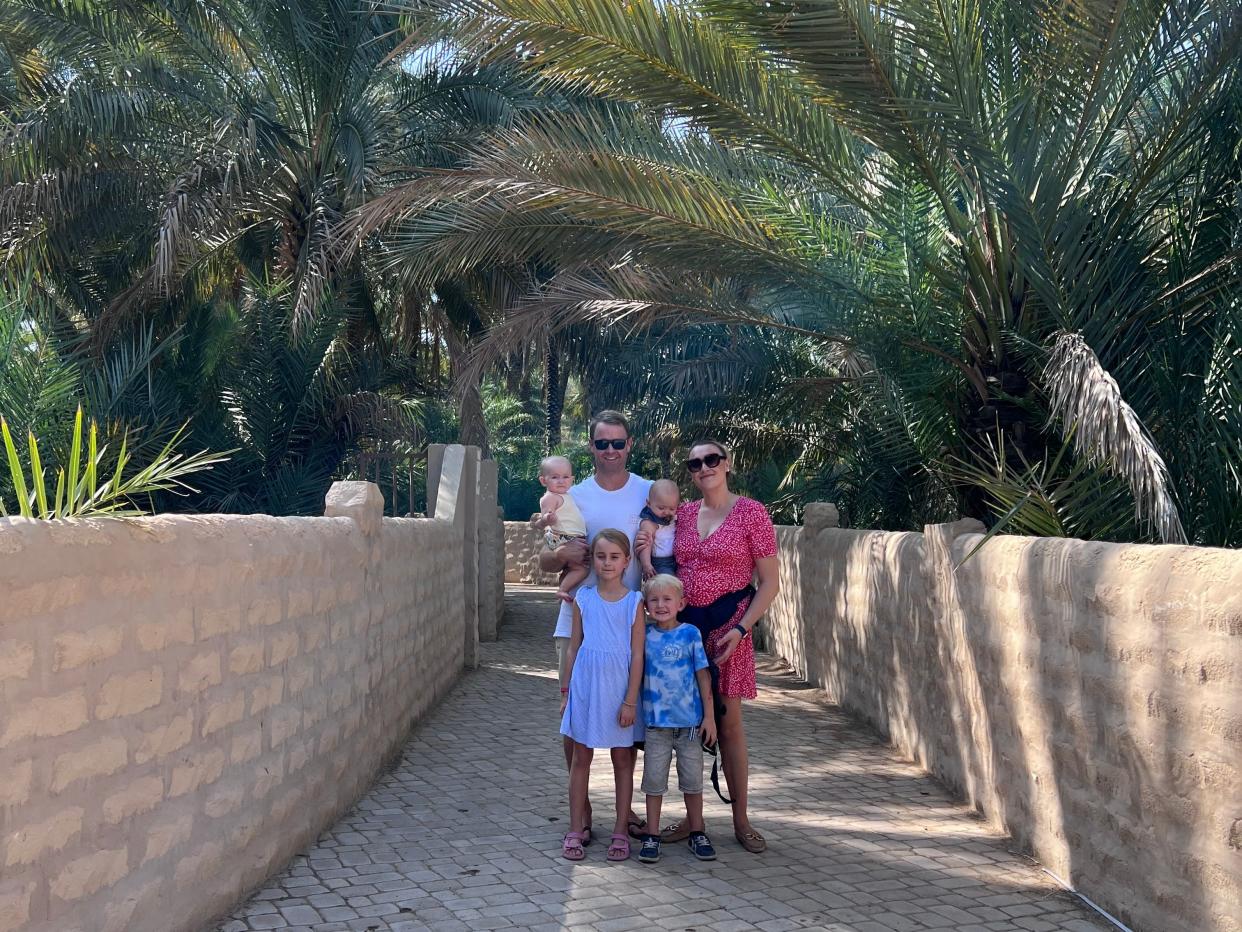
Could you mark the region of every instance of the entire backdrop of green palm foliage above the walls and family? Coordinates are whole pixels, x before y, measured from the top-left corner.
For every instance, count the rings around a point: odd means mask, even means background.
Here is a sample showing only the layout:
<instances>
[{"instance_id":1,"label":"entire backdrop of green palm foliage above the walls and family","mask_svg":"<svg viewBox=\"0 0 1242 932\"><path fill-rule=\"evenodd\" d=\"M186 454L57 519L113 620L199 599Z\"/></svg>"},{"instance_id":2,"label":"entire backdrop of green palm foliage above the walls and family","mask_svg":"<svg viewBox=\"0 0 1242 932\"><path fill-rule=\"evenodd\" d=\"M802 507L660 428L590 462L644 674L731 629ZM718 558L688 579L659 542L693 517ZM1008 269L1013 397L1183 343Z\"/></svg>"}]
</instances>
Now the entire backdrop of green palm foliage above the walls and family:
<instances>
[{"instance_id":1,"label":"entire backdrop of green palm foliage above the walls and family","mask_svg":"<svg viewBox=\"0 0 1242 932\"><path fill-rule=\"evenodd\" d=\"M235 451L165 508L404 513L430 439L520 518L619 406L635 468L715 436L786 521L1238 544L1240 37L1225 0L0 0L0 413Z\"/></svg>"}]
</instances>

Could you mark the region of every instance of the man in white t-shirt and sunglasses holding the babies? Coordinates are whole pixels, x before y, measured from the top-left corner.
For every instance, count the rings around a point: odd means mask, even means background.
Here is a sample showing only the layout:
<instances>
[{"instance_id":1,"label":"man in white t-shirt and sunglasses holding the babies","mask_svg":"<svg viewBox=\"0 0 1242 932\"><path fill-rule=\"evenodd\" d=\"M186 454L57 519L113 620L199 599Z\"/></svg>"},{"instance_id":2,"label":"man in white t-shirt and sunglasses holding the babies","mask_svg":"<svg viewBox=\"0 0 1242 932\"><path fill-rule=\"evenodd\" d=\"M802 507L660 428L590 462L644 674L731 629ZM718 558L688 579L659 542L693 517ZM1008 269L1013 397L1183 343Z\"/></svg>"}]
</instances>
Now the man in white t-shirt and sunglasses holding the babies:
<instances>
[{"instance_id":1,"label":"man in white t-shirt and sunglasses holding the babies","mask_svg":"<svg viewBox=\"0 0 1242 932\"><path fill-rule=\"evenodd\" d=\"M635 476L626 468L633 439L630 436L630 423L619 411L600 411L591 419L591 457L595 460L595 472L569 490L574 503L586 519L586 539L606 527L623 531L630 537L631 553L633 536L638 533L638 512L647 503L651 480ZM581 541L544 551L539 554L539 567L548 573L559 573L571 563L587 564L586 544ZM625 584L637 589L642 579L638 560L631 559L625 572ZM595 585L595 572L586 577L582 585ZM569 603L560 604L556 615L556 669L561 691L565 690L565 655L573 628L574 610ZM574 743L565 738L565 764L573 756Z\"/></svg>"}]
</instances>

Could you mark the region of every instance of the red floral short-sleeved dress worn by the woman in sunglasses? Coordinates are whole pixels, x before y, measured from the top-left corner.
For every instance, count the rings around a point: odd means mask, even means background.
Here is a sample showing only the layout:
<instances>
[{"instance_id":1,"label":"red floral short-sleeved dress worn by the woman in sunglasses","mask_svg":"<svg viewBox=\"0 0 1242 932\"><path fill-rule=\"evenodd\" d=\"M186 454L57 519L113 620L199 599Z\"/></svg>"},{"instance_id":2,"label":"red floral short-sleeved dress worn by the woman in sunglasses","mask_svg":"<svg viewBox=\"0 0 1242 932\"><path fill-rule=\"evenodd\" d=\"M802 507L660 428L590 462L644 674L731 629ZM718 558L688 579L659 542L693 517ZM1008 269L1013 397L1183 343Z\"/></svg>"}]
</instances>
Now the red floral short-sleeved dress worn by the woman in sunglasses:
<instances>
[{"instance_id":1,"label":"red floral short-sleeved dress worn by the woman in sunglasses","mask_svg":"<svg viewBox=\"0 0 1242 932\"><path fill-rule=\"evenodd\" d=\"M739 496L720 527L705 541L699 541L698 513L702 505L700 501L684 502L677 509L673 536L677 577L686 587L686 601L696 606L710 605L725 593L750 585L755 560L776 555L776 531L761 503ZM738 605L730 621L737 624L749 605L749 599ZM725 625L717 629L722 635L728 630ZM709 657L715 656L718 640L719 635L713 634L703 645ZM720 695L755 697L755 645L751 637L743 637L733 656L720 667Z\"/></svg>"}]
</instances>

